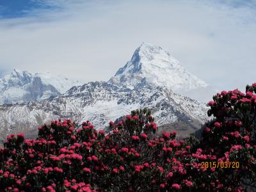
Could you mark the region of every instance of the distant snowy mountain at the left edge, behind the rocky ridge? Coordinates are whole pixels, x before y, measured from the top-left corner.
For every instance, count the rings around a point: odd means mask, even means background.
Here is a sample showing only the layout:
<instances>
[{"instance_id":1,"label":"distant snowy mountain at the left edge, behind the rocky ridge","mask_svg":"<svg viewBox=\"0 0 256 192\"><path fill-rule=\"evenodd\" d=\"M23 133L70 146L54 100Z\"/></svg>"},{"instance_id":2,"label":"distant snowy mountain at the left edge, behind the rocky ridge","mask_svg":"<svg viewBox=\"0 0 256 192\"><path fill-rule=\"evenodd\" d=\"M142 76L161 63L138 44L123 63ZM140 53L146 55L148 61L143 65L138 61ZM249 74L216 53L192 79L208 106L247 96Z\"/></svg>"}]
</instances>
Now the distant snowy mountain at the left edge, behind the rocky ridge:
<instances>
[{"instance_id":1,"label":"distant snowy mountain at the left edge, behind the rocky ridge","mask_svg":"<svg viewBox=\"0 0 256 192\"><path fill-rule=\"evenodd\" d=\"M65 93L78 84L77 81L49 73L31 74L14 69L10 75L0 79L0 104L46 99Z\"/></svg>"}]
</instances>

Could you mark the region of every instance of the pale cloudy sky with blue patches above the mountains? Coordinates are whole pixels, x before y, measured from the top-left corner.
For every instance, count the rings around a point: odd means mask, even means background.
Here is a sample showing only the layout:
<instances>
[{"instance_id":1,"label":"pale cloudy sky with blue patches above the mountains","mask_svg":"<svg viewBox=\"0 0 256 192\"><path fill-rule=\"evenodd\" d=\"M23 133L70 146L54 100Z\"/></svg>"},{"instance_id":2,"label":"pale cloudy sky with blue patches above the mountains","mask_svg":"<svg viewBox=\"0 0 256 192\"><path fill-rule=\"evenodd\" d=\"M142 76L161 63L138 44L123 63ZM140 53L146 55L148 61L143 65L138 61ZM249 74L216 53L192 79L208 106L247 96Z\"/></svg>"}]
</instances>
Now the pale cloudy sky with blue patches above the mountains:
<instances>
[{"instance_id":1,"label":"pale cloudy sky with blue patches above the mountains","mask_svg":"<svg viewBox=\"0 0 256 192\"><path fill-rule=\"evenodd\" d=\"M148 42L220 90L244 90L256 81L255 16L253 0L0 0L0 76L106 81Z\"/></svg>"}]
</instances>

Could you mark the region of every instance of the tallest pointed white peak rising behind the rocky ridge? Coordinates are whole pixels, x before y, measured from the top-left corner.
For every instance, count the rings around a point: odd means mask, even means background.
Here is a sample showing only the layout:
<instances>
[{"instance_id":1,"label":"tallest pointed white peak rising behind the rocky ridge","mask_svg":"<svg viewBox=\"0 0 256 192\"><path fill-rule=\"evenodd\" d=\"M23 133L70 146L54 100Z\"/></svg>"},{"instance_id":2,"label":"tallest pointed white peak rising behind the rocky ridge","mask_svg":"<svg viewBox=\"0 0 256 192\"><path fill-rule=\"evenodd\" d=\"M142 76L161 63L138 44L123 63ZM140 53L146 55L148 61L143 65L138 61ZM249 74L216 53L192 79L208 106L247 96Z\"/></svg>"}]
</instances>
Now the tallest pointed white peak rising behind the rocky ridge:
<instances>
[{"instance_id":1,"label":"tallest pointed white peak rising behind the rocky ridge","mask_svg":"<svg viewBox=\"0 0 256 192\"><path fill-rule=\"evenodd\" d=\"M195 99L202 101L205 101L201 98L202 90L207 90L208 94L210 91L211 95L216 93L209 84L189 73L169 52L146 43L136 49L131 60L124 67L119 68L108 83L132 89L142 79L147 79L148 82L157 86L166 86L174 92L189 97L192 95ZM190 94L192 92L193 94ZM206 100L209 99L211 97Z\"/></svg>"}]
</instances>

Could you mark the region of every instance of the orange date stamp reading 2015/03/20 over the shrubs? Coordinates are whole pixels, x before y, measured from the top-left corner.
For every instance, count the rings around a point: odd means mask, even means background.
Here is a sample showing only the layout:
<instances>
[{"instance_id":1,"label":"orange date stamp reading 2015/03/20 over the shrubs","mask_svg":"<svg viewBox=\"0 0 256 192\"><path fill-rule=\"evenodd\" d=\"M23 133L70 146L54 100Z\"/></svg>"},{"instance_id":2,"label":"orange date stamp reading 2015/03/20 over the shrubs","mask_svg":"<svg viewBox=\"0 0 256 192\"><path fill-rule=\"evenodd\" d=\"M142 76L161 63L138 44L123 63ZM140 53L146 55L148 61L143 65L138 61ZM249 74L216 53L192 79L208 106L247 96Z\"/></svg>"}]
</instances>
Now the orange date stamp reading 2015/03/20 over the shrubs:
<instances>
[{"instance_id":1,"label":"orange date stamp reading 2015/03/20 over the shrubs","mask_svg":"<svg viewBox=\"0 0 256 192\"><path fill-rule=\"evenodd\" d=\"M239 168L240 164L238 161L205 161L201 163L201 168Z\"/></svg>"}]
</instances>

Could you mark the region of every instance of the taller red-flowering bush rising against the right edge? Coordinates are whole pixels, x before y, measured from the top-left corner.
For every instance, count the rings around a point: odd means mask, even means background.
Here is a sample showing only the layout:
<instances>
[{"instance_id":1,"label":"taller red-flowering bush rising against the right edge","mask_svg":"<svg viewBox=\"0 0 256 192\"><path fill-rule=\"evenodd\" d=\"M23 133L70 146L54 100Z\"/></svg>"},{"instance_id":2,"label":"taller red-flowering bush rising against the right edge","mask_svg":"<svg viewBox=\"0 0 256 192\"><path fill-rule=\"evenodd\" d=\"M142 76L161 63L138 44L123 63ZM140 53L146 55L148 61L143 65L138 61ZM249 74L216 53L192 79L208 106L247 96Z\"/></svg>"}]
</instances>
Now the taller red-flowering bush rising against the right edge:
<instances>
[{"instance_id":1,"label":"taller red-flowering bush rising against the right edge","mask_svg":"<svg viewBox=\"0 0 256 192\"><path fill-rule=\"evenodd\" d=\"M215 118L205 124L200 147L205 154L214 154L218 161L238 161L236 170L216 170L218 177L256 190L256 83L239 90L223 91L208 103L208 115Z\"/></svg>"}]
</instances>

